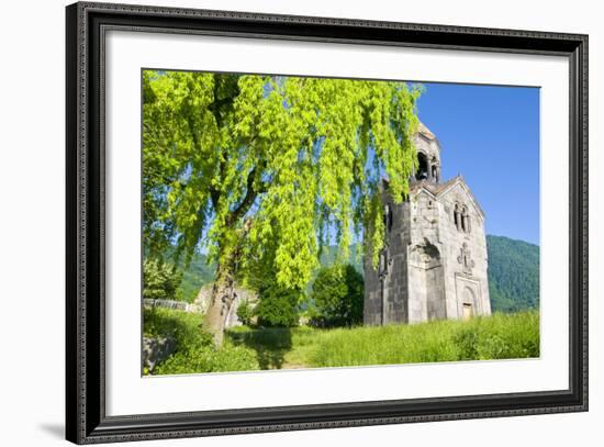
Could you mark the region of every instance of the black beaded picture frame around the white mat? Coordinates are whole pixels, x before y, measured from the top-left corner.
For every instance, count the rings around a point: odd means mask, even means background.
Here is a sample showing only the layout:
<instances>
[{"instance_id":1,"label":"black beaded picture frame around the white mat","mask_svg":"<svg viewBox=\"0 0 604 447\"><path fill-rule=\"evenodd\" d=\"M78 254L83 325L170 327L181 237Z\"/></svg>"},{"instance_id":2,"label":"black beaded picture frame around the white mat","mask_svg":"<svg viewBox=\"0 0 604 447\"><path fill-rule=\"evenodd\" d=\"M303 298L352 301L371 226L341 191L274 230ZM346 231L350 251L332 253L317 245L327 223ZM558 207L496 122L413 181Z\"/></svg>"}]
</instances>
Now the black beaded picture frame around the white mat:
<instances>
[{"instance_id":1,"label":"black beaded picture frame around the white mat","mask_svg":"<svg viewBox=\"0 0 604 447\"><path fill-rule=\"evenodd\" d=\"M68 440L110 443L588 410L586 35L88 2L66 8L66 25ZM111 29L568 57L569 388L479 396L107 416L102 42L104 32Z\"/></svg>"}]
</instances>

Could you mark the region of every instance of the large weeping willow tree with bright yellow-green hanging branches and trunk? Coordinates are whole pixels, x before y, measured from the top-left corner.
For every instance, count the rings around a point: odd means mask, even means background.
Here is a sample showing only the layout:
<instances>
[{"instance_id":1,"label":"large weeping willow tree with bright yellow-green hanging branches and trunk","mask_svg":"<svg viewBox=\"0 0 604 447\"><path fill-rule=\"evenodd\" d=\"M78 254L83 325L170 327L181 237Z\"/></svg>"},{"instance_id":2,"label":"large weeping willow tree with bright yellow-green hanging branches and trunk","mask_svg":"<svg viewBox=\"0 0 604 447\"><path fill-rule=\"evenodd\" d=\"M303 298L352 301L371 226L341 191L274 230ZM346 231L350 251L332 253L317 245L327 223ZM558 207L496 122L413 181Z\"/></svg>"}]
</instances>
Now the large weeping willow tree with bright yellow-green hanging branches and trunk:
<instances>
[{"instance_id":1,"label":"large weeping willow tree with bright yellow-green hanging branches and trunk","mask_svg":"<svg viewBox=\"0 0 604 447\"><path fill-rule=\"evenodd\" d=\"M302 289L324 244L384 244L415 167L420 90L404 82L143 72L143 226L149 256L216 262L205 326L222 343L235 280ZM169 249L167 250L167 247Z\"/></svg>"}]
</instances>

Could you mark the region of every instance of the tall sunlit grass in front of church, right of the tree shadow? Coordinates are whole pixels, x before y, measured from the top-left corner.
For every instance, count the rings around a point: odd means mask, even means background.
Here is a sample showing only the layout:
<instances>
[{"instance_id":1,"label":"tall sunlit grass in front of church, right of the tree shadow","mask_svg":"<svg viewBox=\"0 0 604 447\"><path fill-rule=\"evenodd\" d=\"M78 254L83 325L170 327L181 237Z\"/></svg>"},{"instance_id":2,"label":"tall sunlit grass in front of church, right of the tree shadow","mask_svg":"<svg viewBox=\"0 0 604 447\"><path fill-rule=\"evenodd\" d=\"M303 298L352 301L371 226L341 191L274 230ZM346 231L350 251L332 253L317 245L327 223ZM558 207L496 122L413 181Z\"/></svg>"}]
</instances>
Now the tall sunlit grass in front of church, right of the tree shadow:
<instances>
[{"instance_id":1,"label":"tall sunlit grass in front of church, right of the tree shadow","mask_svg":"<svg viewBox=\"0 0 604 447\"><path fill-rule=\"evenodd\" d=\"M310 362L338 367L538 356L539 320L533 311L469 322L333 329L322 334Z\"/></svg>"}]
</instances>

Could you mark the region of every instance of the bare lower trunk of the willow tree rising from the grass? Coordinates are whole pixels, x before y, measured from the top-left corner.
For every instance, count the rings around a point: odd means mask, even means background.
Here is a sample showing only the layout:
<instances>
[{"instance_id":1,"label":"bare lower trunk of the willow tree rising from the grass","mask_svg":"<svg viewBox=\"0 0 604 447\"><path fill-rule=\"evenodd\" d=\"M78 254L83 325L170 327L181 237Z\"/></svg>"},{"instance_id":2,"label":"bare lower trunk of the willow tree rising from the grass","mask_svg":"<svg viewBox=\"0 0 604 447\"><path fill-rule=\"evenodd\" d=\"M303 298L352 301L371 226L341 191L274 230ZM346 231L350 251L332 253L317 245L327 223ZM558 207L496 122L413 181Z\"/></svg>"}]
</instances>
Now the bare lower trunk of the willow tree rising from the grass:
<instances>
[{"instance_id":1,"label":"bare lower trunk of the willow tree rising from the grass","mask_svg":"<svg viewBox=\"0 0 604 447\"><path fill-rule=\"evenodd\" d=\"M234 298L234 269L230 266L216 267L216 280L212 287L210 306L205 312L204 327L214 337L214 345L222 346L224 328L228 309L233 305Z\"/></svg>"}]
</instances>

